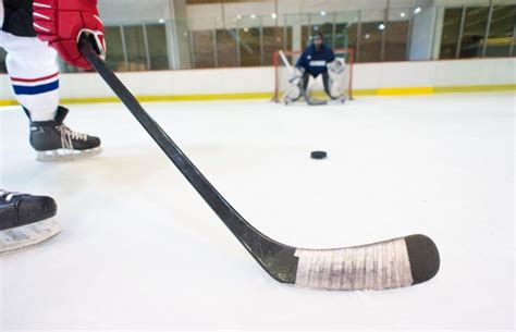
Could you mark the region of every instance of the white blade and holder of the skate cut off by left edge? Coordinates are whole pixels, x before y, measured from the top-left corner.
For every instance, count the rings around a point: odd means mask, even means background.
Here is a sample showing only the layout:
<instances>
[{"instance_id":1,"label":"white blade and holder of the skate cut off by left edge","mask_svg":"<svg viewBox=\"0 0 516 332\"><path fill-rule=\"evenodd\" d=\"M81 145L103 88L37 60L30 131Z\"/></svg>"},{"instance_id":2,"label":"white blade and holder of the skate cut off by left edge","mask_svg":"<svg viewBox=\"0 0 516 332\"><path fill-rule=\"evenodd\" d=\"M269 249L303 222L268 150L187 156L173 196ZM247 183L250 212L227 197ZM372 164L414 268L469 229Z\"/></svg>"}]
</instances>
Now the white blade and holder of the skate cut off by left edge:
<instances>
[{"instance_id":1,"label":"white blade and holder of the skate cut off by left edge","mask_svg":"<svg viewBox=\"0 0 516 332\"><path fill-rule=\"evenodd\" d=\"M0 232L0 256L41 244L59 233L61 226L53 219Z\"/></svg>"}]
</instances>

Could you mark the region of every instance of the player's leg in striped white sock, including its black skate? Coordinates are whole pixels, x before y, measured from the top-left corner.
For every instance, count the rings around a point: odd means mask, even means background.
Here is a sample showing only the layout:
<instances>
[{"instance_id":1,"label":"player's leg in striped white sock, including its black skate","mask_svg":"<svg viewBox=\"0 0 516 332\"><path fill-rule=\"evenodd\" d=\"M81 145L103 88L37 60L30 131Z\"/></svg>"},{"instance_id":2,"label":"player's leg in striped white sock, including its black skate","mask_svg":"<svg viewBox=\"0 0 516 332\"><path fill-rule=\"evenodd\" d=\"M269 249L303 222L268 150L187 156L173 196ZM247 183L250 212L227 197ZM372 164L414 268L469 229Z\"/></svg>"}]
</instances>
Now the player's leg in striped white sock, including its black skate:
<instances>
[{"instance_id":1,"label":"player's leg in striped white sock, including its black skate","mask_svg":"<svg viewBox=\"0 0 516 332\"><path fill-rule=\"evenodd\" d=\"M98 137L71 131L63 121L67 110L59 107L57 52L46 42L0 32L8 51L7 67L16 99L30 120L30 144L38 160L54 161L98 155Z\"/></svg>"}]
</instances>

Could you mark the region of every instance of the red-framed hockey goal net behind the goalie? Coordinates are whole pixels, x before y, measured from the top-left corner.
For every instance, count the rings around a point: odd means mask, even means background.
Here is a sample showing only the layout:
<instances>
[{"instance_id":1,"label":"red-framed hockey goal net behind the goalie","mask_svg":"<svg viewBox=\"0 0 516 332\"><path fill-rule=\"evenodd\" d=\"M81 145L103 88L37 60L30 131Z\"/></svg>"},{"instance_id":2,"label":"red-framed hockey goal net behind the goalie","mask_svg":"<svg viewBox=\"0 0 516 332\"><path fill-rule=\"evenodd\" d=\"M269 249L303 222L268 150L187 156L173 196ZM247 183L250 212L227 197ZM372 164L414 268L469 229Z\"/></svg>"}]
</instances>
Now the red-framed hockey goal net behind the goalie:
<instances>
[{"instance_id":1,"label":"red-framed hockey goal net behind the goalie","mask_svg":"<svg viewBox=\"0 0 516 332\"><path fill-rule=\"evenodd\" d=\"M291 77L291 69L285 63L285 59L281 56L281 52L285 54L286 61L290 65L295 66L297 60L302 56L303 51L293 51L293 50L283 50L274 53L274 95L273 101L281 102L283 96L292 88L288 83ZM353 49L336 49L333 50L335 58L344 59L346 67L343 74L332 78L332 95L344 95L347 99L353 99L353 66L355 61L355 53ZM322 77L319 75L316 79L310 77L308 84L308 93L311 97L328 100L330 99L324 93L324 87L322 84Z\"/></svg>"}]
</instances>

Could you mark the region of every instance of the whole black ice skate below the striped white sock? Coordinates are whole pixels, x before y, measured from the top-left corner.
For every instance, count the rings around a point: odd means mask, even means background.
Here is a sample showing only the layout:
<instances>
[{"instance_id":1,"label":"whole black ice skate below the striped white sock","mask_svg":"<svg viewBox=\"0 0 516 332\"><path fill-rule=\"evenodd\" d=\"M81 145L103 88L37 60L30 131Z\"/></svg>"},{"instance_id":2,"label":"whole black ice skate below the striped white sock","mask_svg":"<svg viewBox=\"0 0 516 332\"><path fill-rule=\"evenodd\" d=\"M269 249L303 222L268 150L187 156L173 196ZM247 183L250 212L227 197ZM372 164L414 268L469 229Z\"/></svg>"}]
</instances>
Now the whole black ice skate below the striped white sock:
<instances>
[{"instance_id":1,"label":"whole black ice skate below the striped white sock","mask_svg":"<svg viewBox=\"0 0 516 332\"><path fill-rule=\"evenodd\" d=\"M74 160L101 152L98 137L75 133L64 125L67 112L67 109L59 107L54 120L30 121L30 145L38 152L38 161ZM25 113L30 119L27 110Z\"/></svg>"}]
</instances>

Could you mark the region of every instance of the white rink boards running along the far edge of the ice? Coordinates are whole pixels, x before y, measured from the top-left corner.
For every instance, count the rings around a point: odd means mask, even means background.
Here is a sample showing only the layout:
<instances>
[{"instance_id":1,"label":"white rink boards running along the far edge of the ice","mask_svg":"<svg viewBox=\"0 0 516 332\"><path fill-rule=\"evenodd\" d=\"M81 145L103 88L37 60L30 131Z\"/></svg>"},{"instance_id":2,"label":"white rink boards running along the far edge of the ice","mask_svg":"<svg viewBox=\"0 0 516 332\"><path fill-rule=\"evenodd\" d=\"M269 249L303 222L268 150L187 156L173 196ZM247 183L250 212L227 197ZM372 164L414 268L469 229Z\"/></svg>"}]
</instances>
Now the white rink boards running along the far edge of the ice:
<instances>
[{"instance_id":1,"label":"white rink boards running along the far edge of the ice","mask_svg":"<svg viewBox=\"0 0 516 332\"><path fill-rule=\"evenodd\" d=\"M516 58L357 63L353 88L462 87L516 85ZM120 73L138 96L257 94L274 90L273 67L210 69ZM0 101L14 99L9 78L0 75ZM61 76L62 98L113 97L97 74Z\"/></svg>"}]
</instances>

